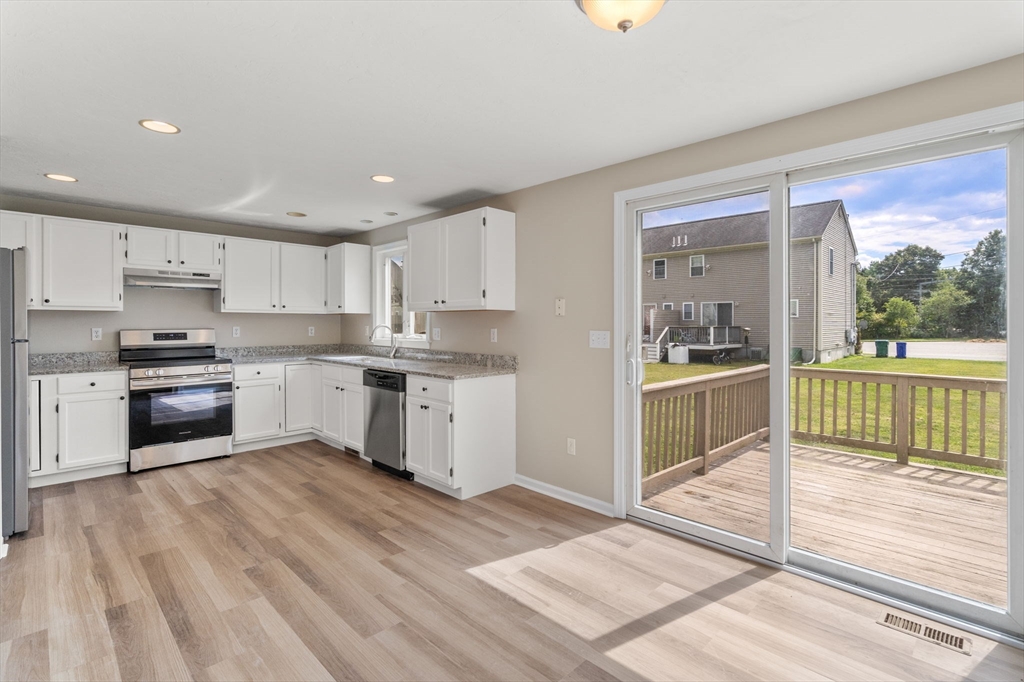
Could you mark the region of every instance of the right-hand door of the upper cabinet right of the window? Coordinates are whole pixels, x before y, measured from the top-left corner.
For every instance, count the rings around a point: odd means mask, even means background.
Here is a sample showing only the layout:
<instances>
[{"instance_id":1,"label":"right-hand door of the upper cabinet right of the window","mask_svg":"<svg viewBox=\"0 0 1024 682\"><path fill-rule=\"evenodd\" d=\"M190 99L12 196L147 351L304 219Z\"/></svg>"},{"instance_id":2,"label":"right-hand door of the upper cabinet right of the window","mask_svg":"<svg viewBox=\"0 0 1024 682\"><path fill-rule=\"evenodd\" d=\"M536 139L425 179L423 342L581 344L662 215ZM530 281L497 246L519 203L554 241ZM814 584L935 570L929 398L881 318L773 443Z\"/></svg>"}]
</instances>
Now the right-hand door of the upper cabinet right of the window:
<instances>
[{"instance_id":1,"label":"right-hand door of the upper cabinet right of the window","mask_svg":"<svg viewBox=\"0 0 1024 682\"><path fill-rule=\"evenodd\" d=\"M444 309L478 309L484 305L483 214L461 213L444 218L442 272Z\"/></svg>"}]
</instances>

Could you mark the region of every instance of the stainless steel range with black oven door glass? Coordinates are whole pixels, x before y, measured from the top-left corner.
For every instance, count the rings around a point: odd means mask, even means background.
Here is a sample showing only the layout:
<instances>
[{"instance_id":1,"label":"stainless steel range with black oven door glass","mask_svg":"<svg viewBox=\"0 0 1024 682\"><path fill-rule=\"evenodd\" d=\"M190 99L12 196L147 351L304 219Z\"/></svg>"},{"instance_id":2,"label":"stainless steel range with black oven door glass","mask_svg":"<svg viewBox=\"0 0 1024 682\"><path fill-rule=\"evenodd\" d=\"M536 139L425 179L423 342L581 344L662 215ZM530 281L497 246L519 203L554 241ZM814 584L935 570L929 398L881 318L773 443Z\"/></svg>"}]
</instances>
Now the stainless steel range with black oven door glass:
<instances>
[{"instance_id":1,"label":"stainless steel range with black oven door glass","mask_svg":"<svg viewBox=\"0 0 1024 682\"><path fill-rule=\"evenodd\" d=\"M128 364L128 469L231 454L231 360L212 329L123 330Z\"/></svg>"}]
</instances>

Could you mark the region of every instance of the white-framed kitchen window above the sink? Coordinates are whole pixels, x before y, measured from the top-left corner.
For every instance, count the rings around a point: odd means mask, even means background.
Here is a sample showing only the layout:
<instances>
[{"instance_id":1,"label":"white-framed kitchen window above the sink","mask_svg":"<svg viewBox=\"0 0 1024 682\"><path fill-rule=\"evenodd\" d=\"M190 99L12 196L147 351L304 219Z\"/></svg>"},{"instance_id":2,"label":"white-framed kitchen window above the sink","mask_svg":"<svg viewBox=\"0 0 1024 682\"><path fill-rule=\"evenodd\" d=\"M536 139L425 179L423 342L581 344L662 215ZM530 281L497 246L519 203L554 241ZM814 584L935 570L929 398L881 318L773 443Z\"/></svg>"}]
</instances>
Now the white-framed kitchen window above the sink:
<instances>
[{"instance_id":1,"label":"white-framed kitchen window above the sink","mask_svg":"<svg viewBox=\"0 0 1024 682\"><path fill-rule=\"evenodd\" d=\"M398 339L398 345L429 348L427 338L429 317L426 312L409 312L407 297L407 242L396 242L374 248L374 327L387 325ZM379 329L372 339L375 344L390 344L386 329Z\"/></svg>"}]
</instances>

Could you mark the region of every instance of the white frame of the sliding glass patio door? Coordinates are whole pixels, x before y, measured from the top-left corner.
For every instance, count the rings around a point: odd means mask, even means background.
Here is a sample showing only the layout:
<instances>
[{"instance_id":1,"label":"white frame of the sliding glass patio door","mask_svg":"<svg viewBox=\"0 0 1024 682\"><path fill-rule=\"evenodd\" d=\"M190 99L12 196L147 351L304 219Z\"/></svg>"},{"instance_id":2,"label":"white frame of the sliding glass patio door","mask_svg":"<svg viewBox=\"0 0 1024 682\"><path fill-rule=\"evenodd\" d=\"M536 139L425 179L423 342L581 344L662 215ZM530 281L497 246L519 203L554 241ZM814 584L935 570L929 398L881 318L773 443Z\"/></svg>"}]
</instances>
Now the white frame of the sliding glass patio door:
<instances>
[{"instance_id":1,"label":"white frame of the sliding glass patio door","mask_svg":"<svg viewBox=\"0 0 1024 682\"><path fill-rule=\"evenodd\" d=\"M639 329L638 293L640 285L640 231L637 229L637 207L668 202L679 203L680 196L713 199L727 187L770 185L771 220L769 259L771 266L770 302L773 348L788 347L788 186L823 179L829 175L847 175L863 170L907 163L913 157L951 156L956 150L980 151L980 136L991 134L993 146L1008 150L1007 254L1008 254L1008 410L1010 414L1024 412L1024 198L1015 187L1024 186L1024 102L1008 104L983 112L927 123L869 137L766 159L742 166L726 168L690 177L669 180L643 187L617 191L614 195L614 343L613 410L614 410L614 511L649 522L670 525L694 538L746 552L761 560L816 577L859 594L886 603L901 603L910 610L1000 639L1020 641L1024 638L1024 420L1009 419L1008 425L1008 531L1009 601L1007 609L986 606L968 599L951 597L938 590L915 585L871 571L859 566L790 548L788 539L788 366L787 353L771 354L770 424L770 527L771 542L767 545L726 531L687 522L668 514L645 510L637 505L637 453L640 429L637 428L642 385L642 365L639 343L633 338ZM1006 134L999 134L1006 133ZM959 139L972 137L972 139ZM927 148L923 145L928 146ZM916 147L916 148L915 148ZM964 152L961 152L964 153ZM886 156L888 155L888 156ZM741 194L733 190L731 194ZM729 195L726 195L729 196ZM781 276L780 276L781 275ZM1015 412L1016 411L1016 412ZM781 435L782 437L778 437ZM782 454L776 456L777 452ZM672 521L671 523L669 521ZM1008 566L1008 569L1009 569Z\"/></svg>"}]
</instances>

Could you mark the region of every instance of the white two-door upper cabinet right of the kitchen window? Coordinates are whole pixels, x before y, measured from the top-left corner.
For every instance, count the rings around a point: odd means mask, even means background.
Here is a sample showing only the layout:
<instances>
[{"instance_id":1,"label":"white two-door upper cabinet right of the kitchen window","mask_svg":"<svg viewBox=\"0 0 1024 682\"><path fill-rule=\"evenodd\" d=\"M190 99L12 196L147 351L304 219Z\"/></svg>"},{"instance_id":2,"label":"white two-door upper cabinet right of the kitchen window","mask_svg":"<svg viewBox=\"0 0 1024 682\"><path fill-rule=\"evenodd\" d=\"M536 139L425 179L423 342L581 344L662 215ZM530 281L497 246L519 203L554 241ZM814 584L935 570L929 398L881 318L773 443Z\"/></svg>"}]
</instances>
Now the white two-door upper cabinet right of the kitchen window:
<instances>
[{"instance_id":1,"label":"white two-door upper cabinet right of the kitchen window","mask_svg":"<svg viewBox=\"0 0 1024 682\"><path fill-rule=\"evenodd\" d=\"M412 310L515 310L515 214L482 208L409 228Z\"/></svg>"}]
</instances>

